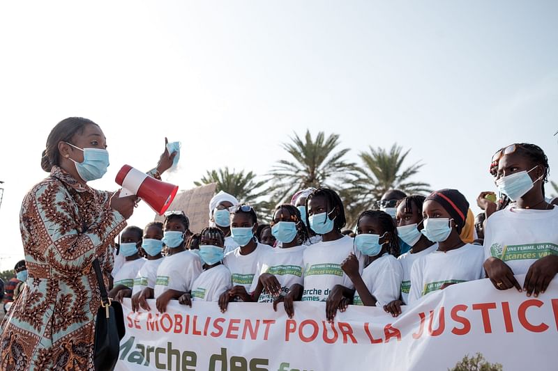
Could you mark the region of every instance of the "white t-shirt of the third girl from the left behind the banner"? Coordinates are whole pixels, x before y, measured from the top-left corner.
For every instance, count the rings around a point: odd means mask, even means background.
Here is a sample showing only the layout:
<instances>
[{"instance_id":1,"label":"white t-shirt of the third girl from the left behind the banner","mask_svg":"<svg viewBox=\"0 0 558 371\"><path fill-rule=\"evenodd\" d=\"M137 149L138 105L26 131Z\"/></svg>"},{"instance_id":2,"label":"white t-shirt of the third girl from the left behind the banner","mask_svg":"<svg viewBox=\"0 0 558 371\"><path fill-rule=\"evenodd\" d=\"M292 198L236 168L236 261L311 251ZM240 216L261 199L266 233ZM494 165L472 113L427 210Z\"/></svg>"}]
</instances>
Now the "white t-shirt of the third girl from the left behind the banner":
<instances>
[{"instance_id":1,"label":"white t-shirt of the third girl from the left behind the banner","mask_svg":"<svg viewBox=\"0 0 558 371\"><path fill-rule=\"evenodd\" d=\"M187 292L194 280L202 274L202 261L191 251L165 256L157 269L155 299L166 290Z\"/></svg>"}]
</instances>

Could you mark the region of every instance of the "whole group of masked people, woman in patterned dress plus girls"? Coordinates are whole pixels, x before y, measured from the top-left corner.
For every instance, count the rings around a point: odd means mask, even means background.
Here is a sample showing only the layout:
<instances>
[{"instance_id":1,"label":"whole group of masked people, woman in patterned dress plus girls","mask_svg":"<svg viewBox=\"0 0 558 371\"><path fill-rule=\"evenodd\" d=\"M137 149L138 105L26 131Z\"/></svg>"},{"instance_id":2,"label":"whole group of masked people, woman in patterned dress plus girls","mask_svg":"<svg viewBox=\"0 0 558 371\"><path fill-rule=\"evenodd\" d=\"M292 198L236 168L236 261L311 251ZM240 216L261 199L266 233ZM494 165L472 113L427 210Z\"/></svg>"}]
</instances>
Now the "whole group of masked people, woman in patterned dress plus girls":
<instances>
[{"instance_id":1,"label":"whole group of masked people, woman in patterned dress plus girls","mask_svg":"<svg viewBox=\"0 0 558 371\"><path fill-rule=\"evenodd\" d=\"M0 326L1 369L93 370L93 261L110 297L130 297L136 311L163 313L176 300L225 312L231 301L254 301L292 317L295 301L324 301L330 322L352 304L396 317L425 295L485 277L496 290L538 297L558 272L557 200L545 197L550 167L534 144L507 145L487 161L498 195L481 192L477 216L457 189L391 190L348 230L338 192L320 187L296 192L260 225L257 210L220 191L196 234L181 210L126 226L137 197L87 184L106 173L106 148L85 118L62 120L47 139L41 166L50 175L22 203L25 285ZM176 155L165 145L148 174L160 179Z\"/></svg>"}]
</instances>

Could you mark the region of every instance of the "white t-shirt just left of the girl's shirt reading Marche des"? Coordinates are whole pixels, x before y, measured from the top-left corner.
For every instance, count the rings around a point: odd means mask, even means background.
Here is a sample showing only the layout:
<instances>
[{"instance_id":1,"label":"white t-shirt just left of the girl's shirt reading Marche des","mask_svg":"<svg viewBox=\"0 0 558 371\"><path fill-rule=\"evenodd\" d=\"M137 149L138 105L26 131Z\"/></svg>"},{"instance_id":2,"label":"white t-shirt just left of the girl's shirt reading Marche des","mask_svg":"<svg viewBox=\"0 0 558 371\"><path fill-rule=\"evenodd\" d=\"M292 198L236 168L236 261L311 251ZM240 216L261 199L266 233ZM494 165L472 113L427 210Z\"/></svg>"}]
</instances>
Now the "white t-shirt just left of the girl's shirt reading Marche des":
<instances>
[{"instance_id":1,"label":"white t-shirt just left of the girl's shirt reading Marche des","mask_svg":"<svg viewBox=\"0 0 558 371\"><path fill-rule=\"evenodd\" d=\"M256 290L258 278L261 274L269 273L276 276L281 285L281 295L285 296L295 283L303 284L303 254L306 245L293 246L289 248L273 248L268 253L262 255L262 260L258 264L258 271L252 281L250 292ZM259 303L272 303L275 300L270 294L262 291L259 295Z\"/></svg>"}]
</instances>

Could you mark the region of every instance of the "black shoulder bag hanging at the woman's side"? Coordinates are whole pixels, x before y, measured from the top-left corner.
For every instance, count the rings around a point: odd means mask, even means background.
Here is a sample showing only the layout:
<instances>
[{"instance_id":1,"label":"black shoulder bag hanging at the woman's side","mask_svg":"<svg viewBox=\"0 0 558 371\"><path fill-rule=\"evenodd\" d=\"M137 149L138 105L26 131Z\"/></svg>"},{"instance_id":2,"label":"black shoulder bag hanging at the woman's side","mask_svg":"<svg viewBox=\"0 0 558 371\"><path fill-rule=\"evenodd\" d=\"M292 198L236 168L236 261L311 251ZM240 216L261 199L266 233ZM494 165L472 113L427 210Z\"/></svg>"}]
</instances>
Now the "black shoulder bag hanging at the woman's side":
<instances>
[{"instance_id":1,"label":"black shoulder bag hanging at the woman's side","mask_svg":"<svg viewBox=\"0 0 558 371\"><path fill-rule=\"evenodd\" d=\"M120 303L109 299L97 259L93 260L93 268L97 276L101 300L95 319L93 363L96 371L112 371L120 354L120 340L126 334L124 315Z\"/></svg>"}]
</instances>

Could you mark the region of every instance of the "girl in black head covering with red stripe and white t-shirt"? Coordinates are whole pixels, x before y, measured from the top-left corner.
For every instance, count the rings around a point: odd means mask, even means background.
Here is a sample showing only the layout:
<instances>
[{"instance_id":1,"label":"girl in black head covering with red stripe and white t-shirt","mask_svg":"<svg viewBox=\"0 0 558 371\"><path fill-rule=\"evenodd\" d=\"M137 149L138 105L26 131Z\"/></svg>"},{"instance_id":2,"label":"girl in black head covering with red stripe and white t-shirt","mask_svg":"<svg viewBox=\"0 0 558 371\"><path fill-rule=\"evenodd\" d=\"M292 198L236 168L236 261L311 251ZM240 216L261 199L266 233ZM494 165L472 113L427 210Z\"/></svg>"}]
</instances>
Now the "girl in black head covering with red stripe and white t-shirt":
<instances>
[{"instance_id":1,"label":"girl in black head covering with red stripe and white t-shirt","mask_svg":"<svg viewBox=\"0 0 558 371\"><path fill-rule=\"evenodd\" d=\"M414 262L409 303L448 285L483 278L483 248L460 237L468 210L469 203L456 189L441 189L425 199L422 233L438 248Z\"/></svg>"}]
</instances>

